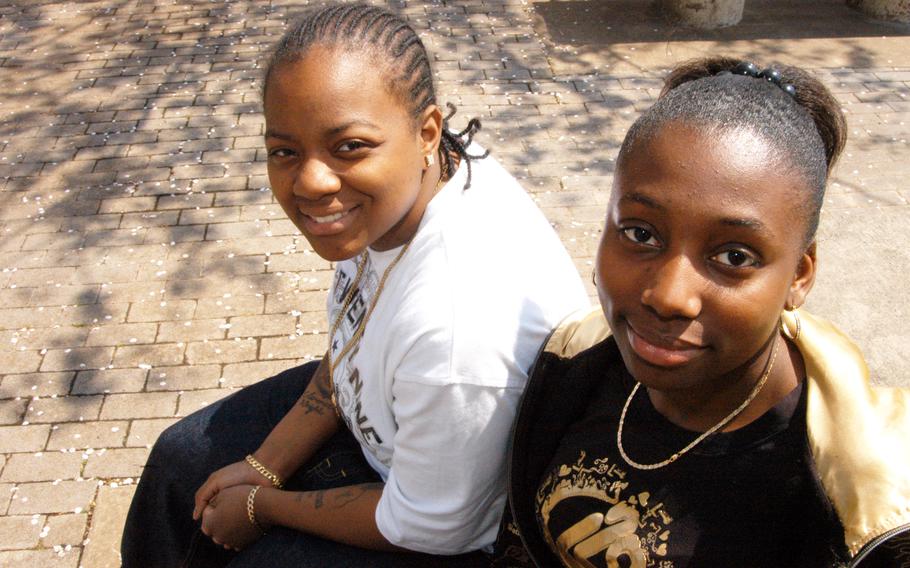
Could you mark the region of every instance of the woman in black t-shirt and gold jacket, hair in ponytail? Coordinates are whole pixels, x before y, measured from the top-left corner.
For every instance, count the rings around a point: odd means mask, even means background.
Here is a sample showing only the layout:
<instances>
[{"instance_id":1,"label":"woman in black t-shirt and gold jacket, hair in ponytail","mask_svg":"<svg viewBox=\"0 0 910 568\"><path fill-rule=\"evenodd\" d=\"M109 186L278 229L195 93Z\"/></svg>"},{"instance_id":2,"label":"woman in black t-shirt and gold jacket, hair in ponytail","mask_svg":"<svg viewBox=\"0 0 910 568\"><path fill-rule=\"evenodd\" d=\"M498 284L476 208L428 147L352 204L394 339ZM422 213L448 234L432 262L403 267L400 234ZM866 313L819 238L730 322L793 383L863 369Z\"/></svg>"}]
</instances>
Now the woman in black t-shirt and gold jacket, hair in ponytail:
<instances>
[{"instance_id":1,"label":"woman in black t-shirt and gold jacket, hair in ponytail","mask_svg":"<svg viewBox=\"0 0 910 568\"><path fill-rule=\"evenodd\" d=\"M800 69L670 75L619 153L602 313L563 324L532 372L507 525L525 550L501 564L822 567L910 527L907 394L874 392L798 310L845 138Z\"/></svg>"}]
</instances>

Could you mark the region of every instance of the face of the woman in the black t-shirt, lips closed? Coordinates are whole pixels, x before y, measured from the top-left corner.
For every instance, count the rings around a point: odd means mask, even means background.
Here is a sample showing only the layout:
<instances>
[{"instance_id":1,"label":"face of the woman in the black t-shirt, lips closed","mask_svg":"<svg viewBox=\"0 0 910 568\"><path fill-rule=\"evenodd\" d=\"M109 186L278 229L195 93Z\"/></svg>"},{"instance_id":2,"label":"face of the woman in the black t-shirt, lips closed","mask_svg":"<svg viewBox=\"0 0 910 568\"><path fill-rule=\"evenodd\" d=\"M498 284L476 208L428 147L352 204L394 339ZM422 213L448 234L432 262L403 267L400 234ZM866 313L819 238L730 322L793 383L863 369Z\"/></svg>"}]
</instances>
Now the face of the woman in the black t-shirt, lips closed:
<instances>
[{"instance_id":1,"label":"face of the woman in the black t-shirt, lips closed","mask_svg":"<svg viewBox=\"0 0 910 568\"><path fill-rule=\"evenodd\" d=\"M626 367L658 392L753 384L814 279L807 189L746 130L664 126L621 160L597 288Z\"/></svg>"}]
</instances>

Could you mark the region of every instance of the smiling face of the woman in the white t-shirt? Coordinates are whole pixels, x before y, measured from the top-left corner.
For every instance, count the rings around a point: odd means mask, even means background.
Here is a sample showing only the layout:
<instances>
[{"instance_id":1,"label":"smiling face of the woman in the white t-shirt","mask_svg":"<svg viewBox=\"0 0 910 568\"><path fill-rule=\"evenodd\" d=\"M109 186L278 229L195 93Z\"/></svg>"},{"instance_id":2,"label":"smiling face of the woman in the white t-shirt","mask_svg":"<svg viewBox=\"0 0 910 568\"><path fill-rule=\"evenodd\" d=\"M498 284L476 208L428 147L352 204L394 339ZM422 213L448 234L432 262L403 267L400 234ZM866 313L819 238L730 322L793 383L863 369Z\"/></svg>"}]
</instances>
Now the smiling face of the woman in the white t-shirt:
<instances>
[{"instance_id":1,"label":"smiling face of the woman in the white t-shirt","mask_svg":"<svg viewBox=\"0 0 910 568\"><path fill-rule=\"evenodd\" d=\"M367 54L316 45L280 63L265 123L272 191L320 256L387 250L416 232L438 179L424 156L436 154L441 115L431 106L415 122Z\"/></svg>"}]
</instances>

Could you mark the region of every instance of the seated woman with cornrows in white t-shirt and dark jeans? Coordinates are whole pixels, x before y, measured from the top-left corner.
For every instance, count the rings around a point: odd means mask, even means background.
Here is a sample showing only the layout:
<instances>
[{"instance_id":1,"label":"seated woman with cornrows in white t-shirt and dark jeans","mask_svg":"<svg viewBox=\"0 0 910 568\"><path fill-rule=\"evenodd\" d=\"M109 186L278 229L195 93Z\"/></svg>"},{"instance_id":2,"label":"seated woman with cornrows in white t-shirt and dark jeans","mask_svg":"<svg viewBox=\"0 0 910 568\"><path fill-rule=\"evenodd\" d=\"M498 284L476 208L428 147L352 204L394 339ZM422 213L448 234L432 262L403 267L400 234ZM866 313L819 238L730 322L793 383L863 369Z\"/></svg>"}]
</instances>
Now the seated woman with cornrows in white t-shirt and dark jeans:
<instances>
[{"instance_id":1,"label":"seated woman with cornrows in white t-shirt and dark jeans","mask_svg":"<svg viewBox=\"0 0 910 568\"><path fill-rule=\"evenodd\" d=\"M329 348L162 434L124 566L483 564L526 371L587 306L578 273L479 123L447 130L401 18L310 12L263 100L272 191L337 262Z\"/></svg>"}]
</instances>

